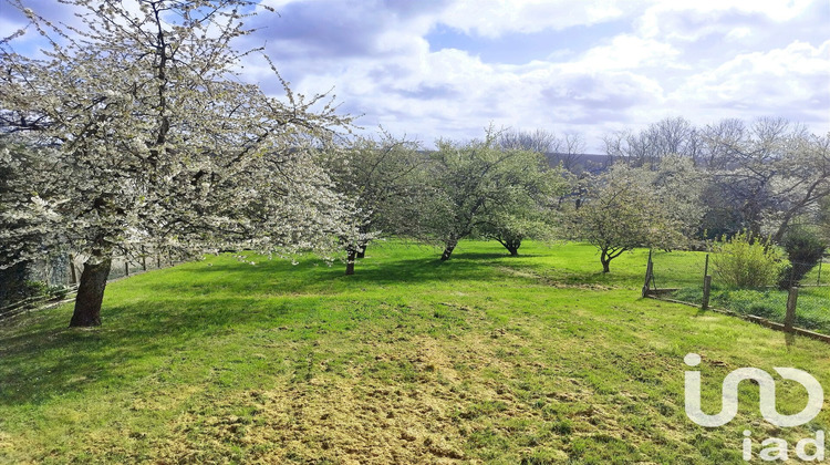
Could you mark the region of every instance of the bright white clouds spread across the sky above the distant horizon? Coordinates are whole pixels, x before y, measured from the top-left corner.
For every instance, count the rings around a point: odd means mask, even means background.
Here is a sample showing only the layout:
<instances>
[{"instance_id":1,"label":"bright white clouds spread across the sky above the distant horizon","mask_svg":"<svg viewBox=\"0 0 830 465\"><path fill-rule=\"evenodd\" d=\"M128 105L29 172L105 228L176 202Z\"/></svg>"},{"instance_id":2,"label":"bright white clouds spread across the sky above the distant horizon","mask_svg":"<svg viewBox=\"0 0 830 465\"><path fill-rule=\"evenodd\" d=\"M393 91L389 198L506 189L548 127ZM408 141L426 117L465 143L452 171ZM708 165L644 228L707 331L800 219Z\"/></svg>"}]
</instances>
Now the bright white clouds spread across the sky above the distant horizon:
<instances>
[{"instance_id":1,"label":"bright white clouds spread across the sky above the distant horizon","mask_svg":"<svg viewBox=\"0 0 830 465\"><path fill-rule=\"evenodd\" d=\"M479 136L490 122L581 132L590 149L598 151L603 134L637 128L668 115L683 115L697 124L727 116L779 114L807 120L813 126L817 121L827 121L827 115L816 110L822 102L828 104L826 86L817 87L830 76L827 43L813 46L792 42L790 46L739 56L722 56L719 50L712 50L701 60L688 55L693 45L686 42L679 46L673 38L644 37L632 30L596 38L588 50L540 56L522 65L485 62L474 51L430 50L424 35L437 22L471 34L497 37L623 14L582 11L551 19L539 10L531 14L532 9L552 11L556 7L522 2L499 19L509 9L505 2L488 0L479 7L480 14L473 14L473 7L458 2L409 21L395 17L375 32L374 54L288 63L313 70L301 74L295 86L311 93L336 85L344 107L365 114L359 124L371 130L382 123L394 133L422 137L427 144L438 136ZM709 14L692 3L682 8ZM715 11L729 8L733 6L727 2ZM649 10L649 14L654 11ZM641 12L646 14L645 9ZM750 28L728 23L713 28L732 31L730 38L736 40L753 33Z\"/></svg>"}]
</instances>

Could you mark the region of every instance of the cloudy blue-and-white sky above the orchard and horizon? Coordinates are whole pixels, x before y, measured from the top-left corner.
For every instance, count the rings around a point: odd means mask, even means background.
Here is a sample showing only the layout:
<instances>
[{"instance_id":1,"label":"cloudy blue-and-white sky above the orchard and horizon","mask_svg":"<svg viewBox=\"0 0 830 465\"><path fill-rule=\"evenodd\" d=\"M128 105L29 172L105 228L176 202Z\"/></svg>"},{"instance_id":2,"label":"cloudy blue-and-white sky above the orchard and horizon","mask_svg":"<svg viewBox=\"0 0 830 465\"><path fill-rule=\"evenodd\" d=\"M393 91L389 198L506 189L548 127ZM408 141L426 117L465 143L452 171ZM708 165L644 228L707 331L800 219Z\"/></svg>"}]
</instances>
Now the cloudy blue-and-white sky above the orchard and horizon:
<instances>
[{"instance_id":1,"label":"cloudy blue-and-white sky above the orchard and horizon","mask_svg":"<svg viewBox=\"0 0 830 465\"><path fill-rule=\"evenodd\" d=\"M828 0L263 2L279 16L248 40L294 90L333 89L359 125L427 144L490 122L581 133L591 152L667 116L830 131ZM266 71L246 66L278 91Z\"/></svg>"}]
</instances>

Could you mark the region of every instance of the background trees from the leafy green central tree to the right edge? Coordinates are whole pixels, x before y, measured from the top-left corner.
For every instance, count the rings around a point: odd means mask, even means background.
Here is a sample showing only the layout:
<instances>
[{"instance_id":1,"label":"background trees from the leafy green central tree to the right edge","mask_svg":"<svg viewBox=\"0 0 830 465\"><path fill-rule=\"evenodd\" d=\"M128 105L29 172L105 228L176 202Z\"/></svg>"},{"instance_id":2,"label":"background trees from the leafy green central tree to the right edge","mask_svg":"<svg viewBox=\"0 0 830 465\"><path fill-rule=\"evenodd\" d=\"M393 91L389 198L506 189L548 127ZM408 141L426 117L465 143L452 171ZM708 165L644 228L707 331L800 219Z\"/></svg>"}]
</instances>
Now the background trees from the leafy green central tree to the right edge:
<instances>
[{"instance_id":1,"label":"background trees from the leafy green central tree to the right edge","mask_svg":"<svg viewBox=\"0 0 830 465\"><path fill-rule=\"evenodd\" d=\"M796 225L817 225L817 232L828 225L828 136L779 118L703 130L671 118L627 137L651 141L651 155L610 151L608 165L594 172L564 169L561 157L547 164L542 151L563 140L544 131L490 130L481 141L438 141L426 154L409 145L397 157L412 161L412 177L391 188L403 193L398 207L374 204L376 218L390 218L375 230L438 241L442 259L470 235L498 240L512 255L526 237L585 240L608 272L635 247L702 247L745 230L781 244Z\"/></svg>"}]
</instances>

